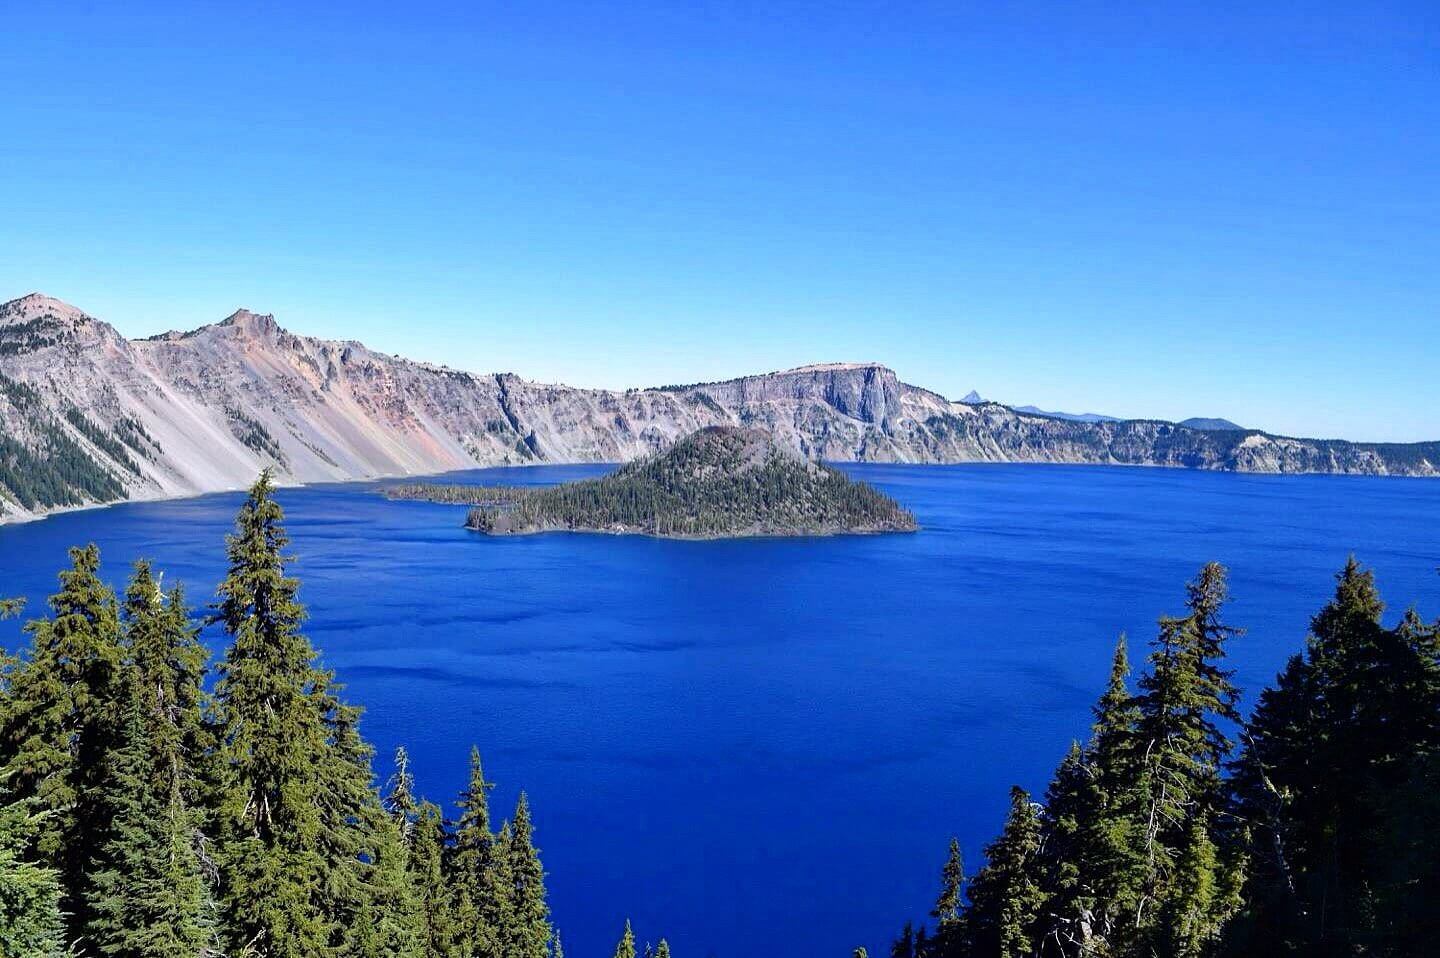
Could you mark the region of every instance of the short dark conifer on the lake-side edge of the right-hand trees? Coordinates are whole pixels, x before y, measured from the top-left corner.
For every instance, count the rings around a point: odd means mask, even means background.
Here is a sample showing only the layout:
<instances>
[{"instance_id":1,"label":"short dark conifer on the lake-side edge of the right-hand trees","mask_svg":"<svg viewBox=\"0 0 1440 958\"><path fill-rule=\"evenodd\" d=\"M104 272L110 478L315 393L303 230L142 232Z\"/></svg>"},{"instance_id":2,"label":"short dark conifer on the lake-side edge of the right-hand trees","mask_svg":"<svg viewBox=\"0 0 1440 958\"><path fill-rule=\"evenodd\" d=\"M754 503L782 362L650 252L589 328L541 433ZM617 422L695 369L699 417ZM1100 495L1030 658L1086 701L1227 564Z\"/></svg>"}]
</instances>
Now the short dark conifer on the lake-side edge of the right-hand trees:
<instances>
[{"instance_id":1,"label":"short dark conifer on the lake-side edge of the right-hand trees","mask_svg":"<svg viewBox=\"0 0 1440 958\"><path fill-rule=\"evenodd\" d=\"M1041 890L1035 876L1040 817L1024 788L1009 791L999 838L985 849L985 867L971 883L965 931L971 954L1022 958L1035 948Z\"/></svg>"}]
</instances>

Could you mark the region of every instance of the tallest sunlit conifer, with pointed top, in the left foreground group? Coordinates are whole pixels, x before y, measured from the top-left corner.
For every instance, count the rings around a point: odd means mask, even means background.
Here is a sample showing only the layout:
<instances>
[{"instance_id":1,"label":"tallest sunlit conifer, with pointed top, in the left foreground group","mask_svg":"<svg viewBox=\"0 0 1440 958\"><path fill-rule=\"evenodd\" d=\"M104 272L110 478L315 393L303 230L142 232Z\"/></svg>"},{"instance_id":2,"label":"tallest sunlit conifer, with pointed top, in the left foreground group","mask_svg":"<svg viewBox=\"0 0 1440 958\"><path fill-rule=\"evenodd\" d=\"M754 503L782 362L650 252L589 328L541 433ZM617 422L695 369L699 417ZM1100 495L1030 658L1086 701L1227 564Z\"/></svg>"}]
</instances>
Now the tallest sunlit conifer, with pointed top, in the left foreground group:
<instances>
[{"instance_id":1,"label":"tallest sunlit conifer, with pointed top, in the left foreground group","mask_svg":"<svg viewBox=\"0 0 1440 958\"><path fill-rule=\"evenodd\" d=\"M229 951L311 958L328 954L366 905L353 880L364 807L348 807L354 716L300 632L305 611L285 575L282 519L265 473L226 542L216 621L230 645L215 689L220 895Z\"/></svg>"}]
</instances>

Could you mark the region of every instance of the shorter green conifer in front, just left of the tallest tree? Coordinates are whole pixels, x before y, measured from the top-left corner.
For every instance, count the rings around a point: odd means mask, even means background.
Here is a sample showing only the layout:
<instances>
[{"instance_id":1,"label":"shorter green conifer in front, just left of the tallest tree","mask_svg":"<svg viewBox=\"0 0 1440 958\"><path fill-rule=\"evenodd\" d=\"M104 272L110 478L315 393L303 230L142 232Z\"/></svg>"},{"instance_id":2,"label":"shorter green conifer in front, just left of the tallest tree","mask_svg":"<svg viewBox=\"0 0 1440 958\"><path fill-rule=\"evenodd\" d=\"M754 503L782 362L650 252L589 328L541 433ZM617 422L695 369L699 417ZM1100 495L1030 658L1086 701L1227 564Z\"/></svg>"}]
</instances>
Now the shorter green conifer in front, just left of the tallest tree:
<instances>
[{"instance_id":1,"label":"shorter green conifer in front, just left of the tallest tree","mask_svg":"<svg viewBox=\"0 0 1440 958\"><path fill-rule=\"evenodd\" d=\"M132 673L120 749L104 789L112 823L88 889L89 941L108 958L219 955L197 853L199 821L181 782L157 768L145 702Z\"/></svg>"}]
</instances>

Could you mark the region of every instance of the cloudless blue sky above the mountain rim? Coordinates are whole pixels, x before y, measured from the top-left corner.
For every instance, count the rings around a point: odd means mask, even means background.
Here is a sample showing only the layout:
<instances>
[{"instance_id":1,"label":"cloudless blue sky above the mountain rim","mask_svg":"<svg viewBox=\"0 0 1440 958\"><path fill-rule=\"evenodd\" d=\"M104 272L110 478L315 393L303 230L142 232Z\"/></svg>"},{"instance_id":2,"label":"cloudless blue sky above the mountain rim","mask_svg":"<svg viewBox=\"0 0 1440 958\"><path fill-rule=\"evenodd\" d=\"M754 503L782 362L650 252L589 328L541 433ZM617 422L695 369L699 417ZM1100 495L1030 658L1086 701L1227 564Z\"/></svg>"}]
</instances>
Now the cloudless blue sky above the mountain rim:
<instances>
[{"instance_id":1,"label":"cloudless blue sky above the mountain rim","mask_svg":"<svg viewBox=\"0 0 1440 958\"><path fill-rule=\"evenodd\" d=\"M6 3L0 298L1440 438L1440 4Z\"/></svg>"}]
</instances>

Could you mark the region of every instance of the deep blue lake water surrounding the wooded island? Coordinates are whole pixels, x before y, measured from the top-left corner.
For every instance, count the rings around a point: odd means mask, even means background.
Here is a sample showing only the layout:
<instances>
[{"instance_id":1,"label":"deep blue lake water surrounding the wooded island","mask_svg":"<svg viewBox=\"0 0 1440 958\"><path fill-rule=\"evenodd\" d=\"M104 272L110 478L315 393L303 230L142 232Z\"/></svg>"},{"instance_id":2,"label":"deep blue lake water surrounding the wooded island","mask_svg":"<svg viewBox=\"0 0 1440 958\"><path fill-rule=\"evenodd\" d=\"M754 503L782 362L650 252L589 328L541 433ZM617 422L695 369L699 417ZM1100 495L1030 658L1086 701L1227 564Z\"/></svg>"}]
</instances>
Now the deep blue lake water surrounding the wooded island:
<instances>
[{"instance_id":1,"label":"deep blue lake water surrounding the wooded island","mask_svg":"<svg viewBox=\"0 0 1440 958\"><path fill-rule=\"evenodd\" d=\"M913 536L485 539L373 485L282 490L308 634L389 755L449 801L481 746L498 815L530 795L572 955L624 919L677 954L883 952L973 863L1012 782L1084 736L1119 632L1135 657L1210 559L1231 566L1238 680L1296 651L1348 553L1391 617L1440 612L1440 481L1054 465L847 470ZM448 481L552 483L596 467ZM209 601L239 494L0 527L0 595L43 609L69 545ZM14 647L19 628L0 625ZM497 815L497 817L498 817Z\"/></svg>"}]
</instances>

